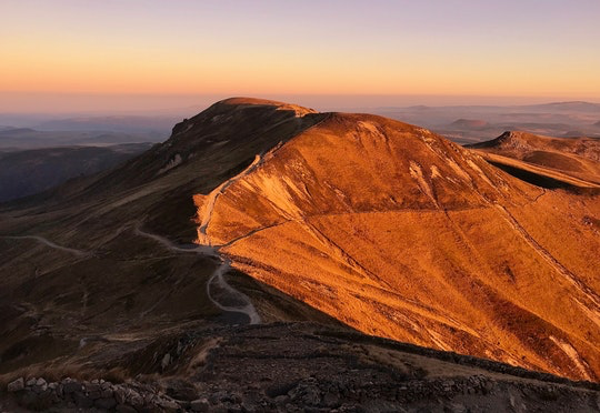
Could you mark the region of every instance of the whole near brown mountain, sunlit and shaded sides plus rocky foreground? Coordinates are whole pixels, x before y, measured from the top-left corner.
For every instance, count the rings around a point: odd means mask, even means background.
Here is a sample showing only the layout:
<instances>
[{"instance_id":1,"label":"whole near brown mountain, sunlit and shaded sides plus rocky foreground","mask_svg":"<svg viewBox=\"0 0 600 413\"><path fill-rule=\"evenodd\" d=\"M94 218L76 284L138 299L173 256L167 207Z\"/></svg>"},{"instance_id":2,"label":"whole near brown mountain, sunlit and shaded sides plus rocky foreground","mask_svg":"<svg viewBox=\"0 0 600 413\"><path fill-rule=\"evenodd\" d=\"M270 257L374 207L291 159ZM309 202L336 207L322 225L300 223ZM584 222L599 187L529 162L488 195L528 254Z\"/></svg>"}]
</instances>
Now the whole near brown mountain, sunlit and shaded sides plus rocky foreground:
<instances>
[{"instance_id":1,"label":"whole near brown mountain, sunlit and shaded sides plus rocky foreground","mask_svg":"<svg viewBox=\"0 0 600 413\"><path fill-rule=\"evenodd\" d=\"M599 231L424 129L221 101L0 205L0 410L593 411Z\"/></svg>"}]
</instances>

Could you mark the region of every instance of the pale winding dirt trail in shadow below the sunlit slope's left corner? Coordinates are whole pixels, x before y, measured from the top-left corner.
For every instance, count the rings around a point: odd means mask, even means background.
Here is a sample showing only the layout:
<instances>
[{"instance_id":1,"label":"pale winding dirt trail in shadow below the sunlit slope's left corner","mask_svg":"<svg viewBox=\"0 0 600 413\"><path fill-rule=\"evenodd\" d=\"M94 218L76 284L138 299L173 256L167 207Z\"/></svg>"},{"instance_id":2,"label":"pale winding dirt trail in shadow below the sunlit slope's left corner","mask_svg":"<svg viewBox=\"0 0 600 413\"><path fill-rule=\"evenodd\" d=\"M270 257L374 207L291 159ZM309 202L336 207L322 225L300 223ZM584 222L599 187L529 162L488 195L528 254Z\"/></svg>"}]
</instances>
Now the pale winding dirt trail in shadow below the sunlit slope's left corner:
<instances>
[{"instance_id":1,"label":"pale winding dirt trail in shadow below the sunlit slope's left corner","mask_svg":"<svg viewBox=\"0 0 600 413\"><path fill-rule=\"evenodd\" d=\"M258 158L258 157L257 157ZM242 293L241 291L236 290L231 285L227 283L227 281L223 278L223 274L226 274L231 269L231 261L229 259L223 259L220 254L217 248L210 246L210 245L198 245L198 244L189 244L189 245L177 245L173 244L168 239L151 234L148 232L144 232L140 230L139 228L136 228L136 233L141 236L149 238L153 241L159 242L168 250L177 251L177 252L186 252L186 253L196 253L196 254L202 254L208 255L212 258L218 258L221 263L220 265L214 270L212 275L210 276L209 281L207 282L207 295L209 300L219 309L221 309L224 312L230 313L241 313L248 316L250 324L260 324L261 319L259 313L257 312L257 309L252 304L252 301L248 295ZM240 302L242 304L240 305L224 305L221 304L211 293L211 286L217 283L218 288L221 291L224 291L228 293L228 295L233 299L236 302Z\"/></svg>"}]
</instances>

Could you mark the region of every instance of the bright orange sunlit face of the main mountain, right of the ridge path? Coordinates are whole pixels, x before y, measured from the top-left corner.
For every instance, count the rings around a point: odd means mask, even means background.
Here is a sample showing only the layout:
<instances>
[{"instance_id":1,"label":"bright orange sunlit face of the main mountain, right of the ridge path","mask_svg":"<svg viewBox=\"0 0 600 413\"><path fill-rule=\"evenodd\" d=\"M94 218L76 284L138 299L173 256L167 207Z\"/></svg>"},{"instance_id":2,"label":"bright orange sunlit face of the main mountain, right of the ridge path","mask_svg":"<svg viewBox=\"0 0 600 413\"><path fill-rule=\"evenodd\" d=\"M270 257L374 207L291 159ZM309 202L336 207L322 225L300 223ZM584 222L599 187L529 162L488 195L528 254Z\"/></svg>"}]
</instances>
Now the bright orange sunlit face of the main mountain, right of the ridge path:
<instances>
[{"instance_id":1,"label":"bright orange sunlit face of the main mountain, right of the ridge path","mask_svg":"<svg viewBox=\"0 0 600 413\"><path fill-rule=\"evenodd\" d=\"M197 195L199 241L371 334L600 376L600 200L427 130L330 114Z\"/></svg>"}]
</instances>

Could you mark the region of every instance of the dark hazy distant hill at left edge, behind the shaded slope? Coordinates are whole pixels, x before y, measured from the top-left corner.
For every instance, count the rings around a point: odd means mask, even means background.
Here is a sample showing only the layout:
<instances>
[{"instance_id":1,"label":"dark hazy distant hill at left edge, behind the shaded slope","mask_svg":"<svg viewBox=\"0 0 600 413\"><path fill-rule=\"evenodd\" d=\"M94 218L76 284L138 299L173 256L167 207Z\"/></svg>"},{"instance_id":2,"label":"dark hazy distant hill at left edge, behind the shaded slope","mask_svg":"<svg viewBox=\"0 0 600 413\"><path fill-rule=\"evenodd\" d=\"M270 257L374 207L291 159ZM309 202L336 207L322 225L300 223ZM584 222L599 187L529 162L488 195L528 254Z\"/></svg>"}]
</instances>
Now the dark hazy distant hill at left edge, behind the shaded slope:
<instances>
[{"instance_id":1,"label":"dark hazy distant hill at left edge, behind the shaded slope","mask_svg":"<svg viewBox=\"0 0 600 413\"><path fill-rule=\"evenodd\" d=\"M59 147L0 153L0 202L49 190L72 178L111 169L151 145Z\"/></svg>"}]
</instances>

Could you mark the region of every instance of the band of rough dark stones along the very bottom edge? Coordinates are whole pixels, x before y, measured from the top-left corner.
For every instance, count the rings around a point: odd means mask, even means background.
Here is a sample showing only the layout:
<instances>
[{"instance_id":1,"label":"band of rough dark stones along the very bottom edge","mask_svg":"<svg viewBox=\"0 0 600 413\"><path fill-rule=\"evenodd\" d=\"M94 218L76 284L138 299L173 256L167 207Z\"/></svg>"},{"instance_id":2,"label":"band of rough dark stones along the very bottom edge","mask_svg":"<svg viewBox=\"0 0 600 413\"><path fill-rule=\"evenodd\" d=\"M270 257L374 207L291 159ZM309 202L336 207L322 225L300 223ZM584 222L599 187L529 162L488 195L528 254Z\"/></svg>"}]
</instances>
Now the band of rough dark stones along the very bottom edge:
<instances>
[{"instance_id":1,"label":"band of rough dark stones along the very bottom edge","mask_svg":"<svg viewBox=\"0 0 600 413\"><path fill-rule=\"evenodd\" d=\"M600 409L600 399L592 391L573 390L558 384L510 383L486 375L468 377L412 379L380 383L362 377L354 380L332 376L329 381L307 377L291 384L276 384L271 393L250 396L231 392L228 386L214 387L210 394L182 401L162 394L140 383L112 384L103 380L76 381L66 379L47 383L33 377L23 385L20 377L9 384L21 407L46 411L92 412L368 412L401 406L414 411L437 405L443 411L468 412L479 407L510 406L516 411L528 407L566 405ZM17 390L19 389L19 390ZM289 389L289 390L288 390ZM0 405L1 406L1 405ZM411 409L412 407L412 409Z\"/></svg>"}]
</instances>

